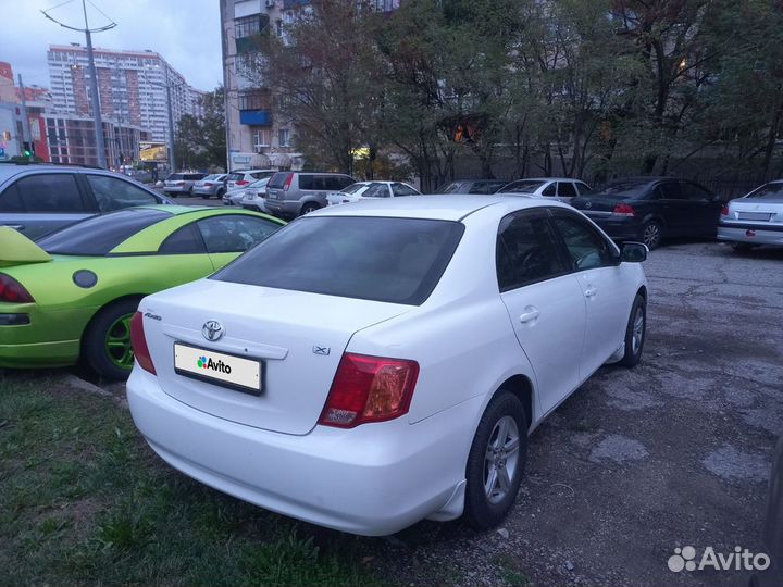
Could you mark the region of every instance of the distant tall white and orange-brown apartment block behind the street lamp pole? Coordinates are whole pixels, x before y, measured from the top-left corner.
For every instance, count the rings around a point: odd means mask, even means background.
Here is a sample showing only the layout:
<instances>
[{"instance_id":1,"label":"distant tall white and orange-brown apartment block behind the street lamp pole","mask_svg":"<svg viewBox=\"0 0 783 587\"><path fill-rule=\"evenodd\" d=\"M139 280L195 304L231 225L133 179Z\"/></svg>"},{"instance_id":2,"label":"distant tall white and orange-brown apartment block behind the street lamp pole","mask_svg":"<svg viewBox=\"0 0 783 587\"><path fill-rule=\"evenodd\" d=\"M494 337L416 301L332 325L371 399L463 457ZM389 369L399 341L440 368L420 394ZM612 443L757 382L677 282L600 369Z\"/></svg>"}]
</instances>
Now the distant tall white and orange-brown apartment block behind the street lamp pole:
<instances>
[{"instance_id":1,"label":"distant tall white and orange-brown apartment block behind the street lamp pole","mask_svg":"<svg viewBox=\"0 0 783 587\"><path fill-rule=\"evenodd\" d=\"M166 142L171 89L174 124L185 114L198 115L202 92L159 53L94 49L101 114L120 125L151 133L152 140ZM50 45L47 53L53 110L62 114L91 116L87 48L80 43Z\"/></svg>"}]
</instances>

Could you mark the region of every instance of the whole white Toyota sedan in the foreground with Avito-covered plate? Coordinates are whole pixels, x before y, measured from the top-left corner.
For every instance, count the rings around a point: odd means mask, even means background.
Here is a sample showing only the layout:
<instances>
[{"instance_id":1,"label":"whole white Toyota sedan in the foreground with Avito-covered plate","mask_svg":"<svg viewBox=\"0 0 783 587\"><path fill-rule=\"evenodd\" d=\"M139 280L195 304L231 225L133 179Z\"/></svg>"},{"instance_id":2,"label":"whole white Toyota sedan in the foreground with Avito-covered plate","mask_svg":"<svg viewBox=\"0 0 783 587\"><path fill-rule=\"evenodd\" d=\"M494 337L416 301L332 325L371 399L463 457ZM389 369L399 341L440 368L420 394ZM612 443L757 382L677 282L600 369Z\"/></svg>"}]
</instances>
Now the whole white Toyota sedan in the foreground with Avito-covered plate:
<instances>
[{"instance_id":1,"label":"whole white Toyota sedan in the foreground with Avito-covered plate","mask_svg":"<svg viewBox=\"0 0 783 587\"><path fill-rule=\"evenodd\" d=\"M529 434L602 364L639 361L646 253L539 199L322 209L141 300L130 411L172 466L285 515L488 528Z\"/></svg>"}]
</instances>

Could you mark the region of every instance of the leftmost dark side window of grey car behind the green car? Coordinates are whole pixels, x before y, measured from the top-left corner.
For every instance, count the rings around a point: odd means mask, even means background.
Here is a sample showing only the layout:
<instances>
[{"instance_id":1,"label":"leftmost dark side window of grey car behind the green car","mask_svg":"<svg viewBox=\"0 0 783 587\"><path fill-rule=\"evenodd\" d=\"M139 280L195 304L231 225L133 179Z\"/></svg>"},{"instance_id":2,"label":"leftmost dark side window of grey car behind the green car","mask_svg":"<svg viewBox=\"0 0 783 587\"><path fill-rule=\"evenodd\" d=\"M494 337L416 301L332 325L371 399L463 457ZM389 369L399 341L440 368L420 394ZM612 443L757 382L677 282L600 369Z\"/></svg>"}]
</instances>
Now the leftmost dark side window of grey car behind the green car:
<instances>
[{"instance_id":1,"label":"leftmost dark side window of grey car behind the green car","mask_svg":"<svg viewBox=\"0 0 783 587\"><path fill-rule=\"evenodd\" d=\"M92 212L85 205L76 176L66 173L40 173L16 182L27 212Z\"/></svg>"}]
</instances>

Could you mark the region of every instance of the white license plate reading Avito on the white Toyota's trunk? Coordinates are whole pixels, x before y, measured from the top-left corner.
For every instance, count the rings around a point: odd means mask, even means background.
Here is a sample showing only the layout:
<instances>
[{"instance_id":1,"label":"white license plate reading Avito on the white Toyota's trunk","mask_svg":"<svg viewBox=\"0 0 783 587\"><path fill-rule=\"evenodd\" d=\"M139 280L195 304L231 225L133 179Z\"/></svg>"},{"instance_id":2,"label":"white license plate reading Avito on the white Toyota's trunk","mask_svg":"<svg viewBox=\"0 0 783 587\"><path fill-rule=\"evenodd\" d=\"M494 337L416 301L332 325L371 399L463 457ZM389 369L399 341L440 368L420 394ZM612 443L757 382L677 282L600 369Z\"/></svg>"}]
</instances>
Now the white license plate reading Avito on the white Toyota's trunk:
<instances>
[{"instance_id":1,"label":"white license plate reading Avito on the white Toyota's trunk","mask_svg":"<svg viewBox=\"0 0 783 587\"><path fill-rule=\"evenodd\" d=\"M261 361L174 342L174 371L179 375L260 395Z\"/></svg>"}]
</instances>

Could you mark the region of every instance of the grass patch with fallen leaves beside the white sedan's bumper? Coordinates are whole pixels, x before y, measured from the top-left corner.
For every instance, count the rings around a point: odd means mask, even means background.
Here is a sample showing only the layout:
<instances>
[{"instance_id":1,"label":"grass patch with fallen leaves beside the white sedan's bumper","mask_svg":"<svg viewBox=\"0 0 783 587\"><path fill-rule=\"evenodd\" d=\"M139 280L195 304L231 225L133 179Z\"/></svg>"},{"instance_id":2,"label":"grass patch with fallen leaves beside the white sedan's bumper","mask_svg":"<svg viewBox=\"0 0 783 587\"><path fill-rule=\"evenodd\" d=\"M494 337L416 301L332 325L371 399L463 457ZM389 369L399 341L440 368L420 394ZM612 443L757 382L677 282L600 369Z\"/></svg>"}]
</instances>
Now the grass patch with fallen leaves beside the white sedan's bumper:
<instances>
[{"instance_id":1,"label":"grass patch with fallen leaves beside the white sedan's bumper","mask_svg":"<svg viewBox=\"0 0 783 587\"><path fill-rule=\"evenodd\" d=\"M372 585L369 542L175 472L111 399L0 373L4 585Z\"/></svg>"}]
</instances>

